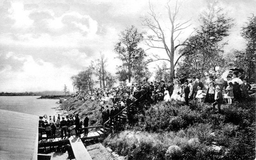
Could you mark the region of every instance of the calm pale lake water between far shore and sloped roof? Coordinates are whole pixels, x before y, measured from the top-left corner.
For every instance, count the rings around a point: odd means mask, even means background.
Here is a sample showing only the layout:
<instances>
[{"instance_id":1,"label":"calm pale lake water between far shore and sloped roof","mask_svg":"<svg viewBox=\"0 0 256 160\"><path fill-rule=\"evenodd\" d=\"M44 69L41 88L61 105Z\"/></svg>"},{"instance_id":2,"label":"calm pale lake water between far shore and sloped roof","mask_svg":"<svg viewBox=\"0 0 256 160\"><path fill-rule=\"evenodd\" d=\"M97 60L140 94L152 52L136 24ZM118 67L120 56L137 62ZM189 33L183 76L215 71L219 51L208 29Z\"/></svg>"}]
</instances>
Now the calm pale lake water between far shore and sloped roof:
<instances>
[{"instance_id":1,"label":"calm pale lake water between far shore and sloped roof","mask_svg":"<svg viewBox=\"0 0 256 160\"><path fill-rule=\"evenodd\" d=\"M38 116L53 116L59 100L36 99L40 96L0 96L0 109L34 114Z\"/></svg>"}]
</instances>

